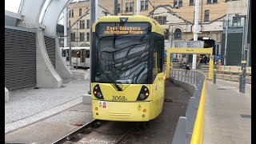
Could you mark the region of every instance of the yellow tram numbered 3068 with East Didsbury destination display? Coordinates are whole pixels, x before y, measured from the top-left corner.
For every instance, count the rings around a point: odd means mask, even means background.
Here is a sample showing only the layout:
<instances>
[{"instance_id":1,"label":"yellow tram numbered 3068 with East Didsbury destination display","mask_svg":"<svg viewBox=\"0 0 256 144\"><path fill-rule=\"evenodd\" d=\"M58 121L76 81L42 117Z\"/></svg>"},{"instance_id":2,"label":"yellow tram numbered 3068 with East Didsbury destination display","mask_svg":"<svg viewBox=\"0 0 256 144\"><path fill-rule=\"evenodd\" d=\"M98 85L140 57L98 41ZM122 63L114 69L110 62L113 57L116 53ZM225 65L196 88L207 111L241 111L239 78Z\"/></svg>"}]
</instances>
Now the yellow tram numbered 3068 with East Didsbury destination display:
<instances>
[{"instance_id":1,"label":"yellow tram numbered 3068 with East Didsbury destination display","mask_svg":"<svg viewBox=\"0 0 256 144\"><path fill-rule=\"evenodd\" d=\"M106 16L93 26L93 117L146 122L162 112L164 30L145 16Z\"/></svg>"}]
</instances>

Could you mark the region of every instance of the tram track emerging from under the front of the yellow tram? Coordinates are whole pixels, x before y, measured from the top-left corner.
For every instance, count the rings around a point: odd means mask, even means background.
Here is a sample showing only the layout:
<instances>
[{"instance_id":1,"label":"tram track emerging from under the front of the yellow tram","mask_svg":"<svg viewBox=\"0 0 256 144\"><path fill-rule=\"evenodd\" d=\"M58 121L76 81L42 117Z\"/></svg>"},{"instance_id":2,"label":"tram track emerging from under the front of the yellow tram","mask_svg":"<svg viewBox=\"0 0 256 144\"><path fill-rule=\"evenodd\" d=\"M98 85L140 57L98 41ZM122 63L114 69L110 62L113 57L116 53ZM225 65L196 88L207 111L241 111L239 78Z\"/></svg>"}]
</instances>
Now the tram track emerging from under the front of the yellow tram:
<instances>
[{"instance_id":1,"label":"tram track emerging from under the front of the yellow tram","mask_svg":"<svg viewBox=\"0 0 256 144\"><path fill-rule=\"evenodd\" d=\"M83 125L78 130L74 130L70 134L59 138L53 144L71 144L71 143L107 143L121 144L134 132L140 130L138 123L140 122L107 122L93 120ZM131 125L130 125L131 124ZM106 132L104 132L106 131Z\"/></svg>"}]
</instances>

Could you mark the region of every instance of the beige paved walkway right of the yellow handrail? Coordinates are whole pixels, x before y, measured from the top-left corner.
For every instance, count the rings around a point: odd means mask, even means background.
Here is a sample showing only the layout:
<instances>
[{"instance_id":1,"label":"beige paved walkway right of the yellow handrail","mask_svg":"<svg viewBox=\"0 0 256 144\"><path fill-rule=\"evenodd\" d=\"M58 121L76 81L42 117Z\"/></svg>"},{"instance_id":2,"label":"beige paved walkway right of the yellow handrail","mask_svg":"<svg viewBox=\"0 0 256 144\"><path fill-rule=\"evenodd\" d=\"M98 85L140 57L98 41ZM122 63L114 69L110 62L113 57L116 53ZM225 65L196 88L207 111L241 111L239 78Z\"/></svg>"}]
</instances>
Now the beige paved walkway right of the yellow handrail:
<instances>
[{"instance_id":1,"label":"beige paved walkway right of the yellow handrail","mask_svg":"<svg viewBox=\"0 0 256 144\"><path fill-rule=\"evenodd\" d=\"M239 93L238 82L206 82L205 144L251 143L251 86Z\"/></svg>"}]
</instances>

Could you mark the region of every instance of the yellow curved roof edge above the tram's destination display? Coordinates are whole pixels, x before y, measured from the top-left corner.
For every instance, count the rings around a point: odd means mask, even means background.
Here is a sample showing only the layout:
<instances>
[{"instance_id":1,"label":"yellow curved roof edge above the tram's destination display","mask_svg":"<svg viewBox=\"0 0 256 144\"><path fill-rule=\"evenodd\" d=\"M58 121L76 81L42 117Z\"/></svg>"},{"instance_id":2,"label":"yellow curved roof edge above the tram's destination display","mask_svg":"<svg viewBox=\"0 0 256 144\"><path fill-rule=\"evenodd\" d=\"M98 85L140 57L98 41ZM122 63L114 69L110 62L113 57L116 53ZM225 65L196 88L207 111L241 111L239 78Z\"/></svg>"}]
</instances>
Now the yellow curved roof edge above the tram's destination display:
<instances>
[{"instance_id":1,"label":"yellow curved roof edge above the tram's destination display","mask_svg":"<svg viewBox=\"0 0 256 144\"><path fill-rule=\"evenodd\" d=\"M128 18L127 22L150 22L150 24L152 25L152 32L164 35L164 29L162 28L162 26L156 20L154 20L154 18L149 18L144 15L104 16L102 18L99 18L98 21L94 23L93 32L95 32L98 22L120 22L120 18Z\"/></svg>"}]
</instances>

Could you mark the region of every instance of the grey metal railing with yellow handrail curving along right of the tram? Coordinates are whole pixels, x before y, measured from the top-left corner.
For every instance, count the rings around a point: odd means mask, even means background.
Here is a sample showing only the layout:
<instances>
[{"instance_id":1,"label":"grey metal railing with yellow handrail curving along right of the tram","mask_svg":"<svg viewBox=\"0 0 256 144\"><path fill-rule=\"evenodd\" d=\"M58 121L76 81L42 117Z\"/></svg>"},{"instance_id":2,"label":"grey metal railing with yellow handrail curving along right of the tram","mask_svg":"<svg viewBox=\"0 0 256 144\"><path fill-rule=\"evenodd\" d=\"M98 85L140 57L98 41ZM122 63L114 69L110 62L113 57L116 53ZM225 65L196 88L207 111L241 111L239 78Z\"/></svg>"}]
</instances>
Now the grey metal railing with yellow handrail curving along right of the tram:
<instances>
[{"instance_id":1,"label":"grey metal railing with yellow handrail curving along right of the tram","mask_svg":"<svg viewBox=\"0 0 256 144\"><path fill-rule=\"evenodd\" d=\"M192 97L186 116L178 119L173 144L201 144L205 102L206 75L195 70L172 70L170 78L186 89Z\"/></svg>"}]
</instances>

